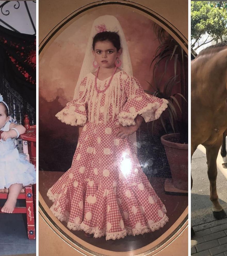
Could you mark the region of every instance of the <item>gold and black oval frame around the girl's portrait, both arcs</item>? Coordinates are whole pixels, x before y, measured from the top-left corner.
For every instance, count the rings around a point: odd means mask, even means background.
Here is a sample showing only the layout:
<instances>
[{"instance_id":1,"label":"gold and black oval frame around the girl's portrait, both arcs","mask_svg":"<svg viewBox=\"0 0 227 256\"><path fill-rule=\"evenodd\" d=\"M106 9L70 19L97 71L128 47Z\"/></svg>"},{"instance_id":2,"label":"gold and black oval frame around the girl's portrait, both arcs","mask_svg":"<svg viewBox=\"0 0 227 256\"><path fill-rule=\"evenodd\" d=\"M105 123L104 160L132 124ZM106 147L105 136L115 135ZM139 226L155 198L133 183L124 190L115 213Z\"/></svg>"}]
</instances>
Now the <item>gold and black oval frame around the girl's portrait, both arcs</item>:
<instances>
[{"instance_id":1,"label":"gold and black oval frame around the girl's portrait, both arcs","mask_svg":"<svg viewBox=\"0 0 227 256\"><path fill-rule=\"evenodd\" d=\"M54 27L52 31L45 37L45 39L40 43L39 46L39 58L40 60L45 54L45 50L48 46L59 36L69 25L75 22L77 19L82 17L84 14L92 12L95 10L106 8L106 7L121 7L133 12L137 12L148 19L154 21L159 26L163 27L183 48L183 50L188 54L188 44L187 39L183 34L169 23L164 17L161 17L157 13L148 9L145 6L139 5L133 2L95 2L83 6L82 8L72 12L64 20L62 20L57 26ZM117 256L119 252L104 250L94 245L91 245L84 240L80 239L74 235L70 230L68 230L56 217L53 215L47 204L45 203L42 195L39 193L39 217L58 235L64 242L66 242L70 247L73 247L78 253L84 255L111 255ZM182 236L183 232L185 234L188 228L188 206L182 212L180 217L176 222L158 239L152 243L141 247L140 249L133 251L121 252L122 255L155 255L161 252L165 247L170 245L177 237Z\"/></svg>"}]
</instances>

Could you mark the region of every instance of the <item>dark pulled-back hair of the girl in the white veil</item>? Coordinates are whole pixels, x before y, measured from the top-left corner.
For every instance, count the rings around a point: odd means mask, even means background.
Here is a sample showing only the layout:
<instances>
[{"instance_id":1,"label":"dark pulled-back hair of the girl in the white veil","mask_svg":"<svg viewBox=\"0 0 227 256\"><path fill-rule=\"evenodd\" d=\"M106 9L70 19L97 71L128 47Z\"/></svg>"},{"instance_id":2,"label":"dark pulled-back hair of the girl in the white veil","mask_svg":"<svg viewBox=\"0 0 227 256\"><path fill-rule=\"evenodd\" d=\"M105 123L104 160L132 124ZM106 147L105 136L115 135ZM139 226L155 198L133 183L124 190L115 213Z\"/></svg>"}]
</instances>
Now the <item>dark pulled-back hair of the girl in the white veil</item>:
<instances>
[{"instance_id":1,"label":"dark pulled-back hair of the girl in the white veil","mask_svg":"<svg viewBox=\"0 0 227 256\"><path fill-rule=\"evenodd\" d=\"M97 42L110 41L117 51L120 50L120 37L116 32L104 31L96 34L93 38L92 48L95 50L95 44Z\"/></svg>"}]
</instances>

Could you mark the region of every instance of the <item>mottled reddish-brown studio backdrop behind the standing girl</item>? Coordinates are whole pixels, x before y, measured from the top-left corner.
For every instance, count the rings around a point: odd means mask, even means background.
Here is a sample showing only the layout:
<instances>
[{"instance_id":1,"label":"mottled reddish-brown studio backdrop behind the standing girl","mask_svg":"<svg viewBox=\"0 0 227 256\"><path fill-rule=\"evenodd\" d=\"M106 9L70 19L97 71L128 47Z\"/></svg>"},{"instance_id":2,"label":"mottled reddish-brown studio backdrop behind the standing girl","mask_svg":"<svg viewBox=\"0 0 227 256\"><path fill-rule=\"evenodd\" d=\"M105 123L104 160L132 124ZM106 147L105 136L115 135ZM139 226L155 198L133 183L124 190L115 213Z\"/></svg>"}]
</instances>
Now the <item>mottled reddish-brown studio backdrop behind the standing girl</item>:
<instances>
[{"instance_id":1,"label":"mottled reddish-brown studio backdrop behind the standing girl","mask_svg":"<svg viewBox=\"0 0 227 256\"><path fill-rule=\"evenodd\" d=\"M146 234L147 239L142 239L140 244L134 245L136 249L163 234L188 205L188 197L185 195L165 194L165 181L171 179L172 174L160 140L166 133L180 132L178 139L187 143L187 55L154 21L127 9L93 10L66 26L51 44L44 47L39 62L39 191L47 205L51 206L46 192L71 166L77 146L78 128L62 123L55 115L73 98L93 21L107 13L115 16L123 28L133 76L139 80L146 93L166 98L169 100L169 106L171 105L160 120L144 122L136 132L137 155L142 170L166 208L168 207L169 213L167 225L155 231L155 234ZM165 38L165 42L161 38ZM163 49L159 49L159 46L162 44L165 48L165 44L170 46L171 43L171 54L159 62L159 54ZM187 171L186 176L188 177ZM187 190L187 185L181 189ZM73 232L80 238L87 239L81 231ZM108 244L100 243L99 239L88 241L96 246L108 248ZM119 247L119 250L127 248Z\"/></svg>"}]
</instances>

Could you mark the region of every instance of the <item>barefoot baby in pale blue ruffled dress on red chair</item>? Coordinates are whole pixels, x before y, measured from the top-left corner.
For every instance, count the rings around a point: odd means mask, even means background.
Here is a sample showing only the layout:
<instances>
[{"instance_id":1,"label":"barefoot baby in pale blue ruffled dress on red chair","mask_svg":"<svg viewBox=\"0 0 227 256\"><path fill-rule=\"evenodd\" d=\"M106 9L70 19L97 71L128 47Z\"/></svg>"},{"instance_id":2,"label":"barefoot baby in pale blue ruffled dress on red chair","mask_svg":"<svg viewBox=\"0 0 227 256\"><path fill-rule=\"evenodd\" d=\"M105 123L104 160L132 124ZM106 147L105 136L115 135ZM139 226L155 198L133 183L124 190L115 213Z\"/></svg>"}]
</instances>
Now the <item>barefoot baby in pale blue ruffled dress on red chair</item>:
<instances>
[{"instance_id":1,"label":"barefoot baby in pale blue ruffled dress on red chair","mask_svg":"<svg viewBox=\"0 0 227 256\"><path fill-rule=\"evenodd\" d=\"M26 129L9 120L9 107L0 95L0 189L9 189L8 198L1 209L3 213L13 212L22 186L36 183L34 165L19 154L14 144L14 138L25 133Z\"/></svg>"}]
</instances>

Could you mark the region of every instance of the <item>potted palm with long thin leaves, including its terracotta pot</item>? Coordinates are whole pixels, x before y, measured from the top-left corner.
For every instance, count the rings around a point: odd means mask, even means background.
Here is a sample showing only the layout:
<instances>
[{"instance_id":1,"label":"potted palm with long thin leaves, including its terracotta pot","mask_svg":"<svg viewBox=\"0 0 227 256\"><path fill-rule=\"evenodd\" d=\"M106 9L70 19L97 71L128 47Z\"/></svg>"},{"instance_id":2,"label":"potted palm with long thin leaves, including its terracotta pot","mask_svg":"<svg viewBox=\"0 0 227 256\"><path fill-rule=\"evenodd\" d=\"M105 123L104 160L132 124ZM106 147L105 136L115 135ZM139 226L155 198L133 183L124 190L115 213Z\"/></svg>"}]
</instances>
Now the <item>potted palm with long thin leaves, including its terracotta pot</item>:
<instances>
[{"instance_id":1,"label":"potted palm with long thin leaves, including its terracotta pot","mask_svg":"<svg viewBox=\"0 0 227 256\"><path fill-rule=\"evenodd\" d=\"M166 132L161 137L161 142L165 147L172 175L172 179L166 179L165 191L188 191L188 56L162 27L156 24L154 30L160 45L151 63L154 83L149 84L152 91L145 92L168 100L167 111L160 116ZM173 75L169 76L166 71L171 68ZM152 122L152 130L156 122ZM171 124L171 133L167 132L166 123Z\"/></svg>"}]
</instances>

